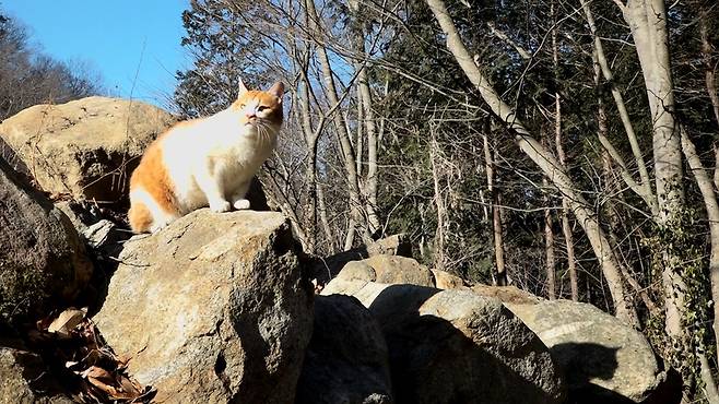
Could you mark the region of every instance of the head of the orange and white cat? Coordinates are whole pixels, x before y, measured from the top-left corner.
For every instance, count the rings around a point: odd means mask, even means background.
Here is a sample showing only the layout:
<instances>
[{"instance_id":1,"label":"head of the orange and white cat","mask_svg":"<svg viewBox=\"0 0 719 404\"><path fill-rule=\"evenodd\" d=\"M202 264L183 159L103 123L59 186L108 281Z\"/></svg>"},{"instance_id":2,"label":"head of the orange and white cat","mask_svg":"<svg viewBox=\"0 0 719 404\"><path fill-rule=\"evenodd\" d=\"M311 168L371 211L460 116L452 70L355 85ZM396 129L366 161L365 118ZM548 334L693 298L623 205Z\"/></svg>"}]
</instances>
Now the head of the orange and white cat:
<instances>
[{"instance_id":1,"label":"head of the orange and white cat","mask_svg":"<svg viewBox=\"0 0 719 404\"><path fill-rule=\"evenodd\" d=\"M231 109L238 114L239 123L248 133L270 131L274 134L282 124L283 93L284 84L281 82L274 83L268 91L255 91L247 90L240 80L239 94Z\"/></svg>"}]
</instances>

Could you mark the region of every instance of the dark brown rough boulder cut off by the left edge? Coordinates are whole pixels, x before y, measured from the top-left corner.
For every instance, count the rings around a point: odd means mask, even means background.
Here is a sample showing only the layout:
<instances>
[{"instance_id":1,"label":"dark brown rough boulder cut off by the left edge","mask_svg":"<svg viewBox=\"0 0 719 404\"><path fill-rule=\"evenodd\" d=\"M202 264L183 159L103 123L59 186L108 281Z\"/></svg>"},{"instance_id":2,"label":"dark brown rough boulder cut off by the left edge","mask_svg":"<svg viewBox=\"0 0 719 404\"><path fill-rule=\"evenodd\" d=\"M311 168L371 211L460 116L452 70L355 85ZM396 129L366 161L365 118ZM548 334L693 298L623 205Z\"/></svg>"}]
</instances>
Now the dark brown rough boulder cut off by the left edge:
<instances>
[{"instance_id":1,"label":"dark brown rough boulder cut off by the left edge","mask_svg":"<svg viewBox=\"0 0 719 404\"><path fill-rule=\"evenodd\" d=\"M0 323L73 300L93 266L68 217L0 159Z\"/></svg>"}]
</instances>

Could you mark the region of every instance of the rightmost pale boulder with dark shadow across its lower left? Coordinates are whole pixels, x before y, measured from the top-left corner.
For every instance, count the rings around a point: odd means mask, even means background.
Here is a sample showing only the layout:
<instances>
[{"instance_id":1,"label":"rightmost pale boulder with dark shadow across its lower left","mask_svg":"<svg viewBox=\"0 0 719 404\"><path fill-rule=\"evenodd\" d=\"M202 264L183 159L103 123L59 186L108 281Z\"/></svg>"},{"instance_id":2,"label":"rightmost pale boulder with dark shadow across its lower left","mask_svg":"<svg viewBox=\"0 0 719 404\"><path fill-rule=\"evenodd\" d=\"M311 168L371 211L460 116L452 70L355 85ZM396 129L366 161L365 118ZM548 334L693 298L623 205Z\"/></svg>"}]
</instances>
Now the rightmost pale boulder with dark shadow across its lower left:
<instances>
[{"instance_id":1,"label":"rightmost pale boulder with dark shadow across its lower left","mask_svg":"<svg viewBox=\"0 0 719 404\"><path fill-rule=\"evenodd\" d=\"M550 347L574 402L675 403L655 354L638 331L594 306L568 300L506 304ZM661 400L658 400L661 399Z\"/></svg>"}]
</instances>

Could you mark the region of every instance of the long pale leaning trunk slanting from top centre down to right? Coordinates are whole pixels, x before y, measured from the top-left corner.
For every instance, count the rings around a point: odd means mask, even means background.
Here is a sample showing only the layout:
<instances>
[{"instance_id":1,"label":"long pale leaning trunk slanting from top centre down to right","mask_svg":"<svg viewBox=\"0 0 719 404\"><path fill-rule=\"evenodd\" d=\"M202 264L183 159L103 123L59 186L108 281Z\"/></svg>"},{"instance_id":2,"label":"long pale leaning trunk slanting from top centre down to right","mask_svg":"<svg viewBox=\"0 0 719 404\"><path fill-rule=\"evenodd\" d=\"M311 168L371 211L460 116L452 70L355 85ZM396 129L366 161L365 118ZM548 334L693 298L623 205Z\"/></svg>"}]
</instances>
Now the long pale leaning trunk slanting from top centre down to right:
<instances>
[{"instance_id":1,"label":"long pale leaning trunk slanting from top centre down to right","mask_svg":"<svg viewBox=\"0 0 719 404\"><path fill-rule=\"evenodd\" d=\"M478 88L482 98L492 111L499 117L515 133L515 141L519 148L527 154L547 176L549 180L559 190L562 195L569 200L569 206L578 223L585 229L587 237L599 260L604 277L612 295L616 317L636 326L638 324L636 310L626 294L622 283L620 262L614 257L606 236L597 221L592 206L577 190L571 179L562 168L552 154L533 139L524 128L515 111L499 98L482 72L474 66L472 57L464 47L455 24L447 12L443 0L425 0L437 19L441 29L447 35L447 47L455 56L467 78Z\"/></svg>"}]
</instances>

